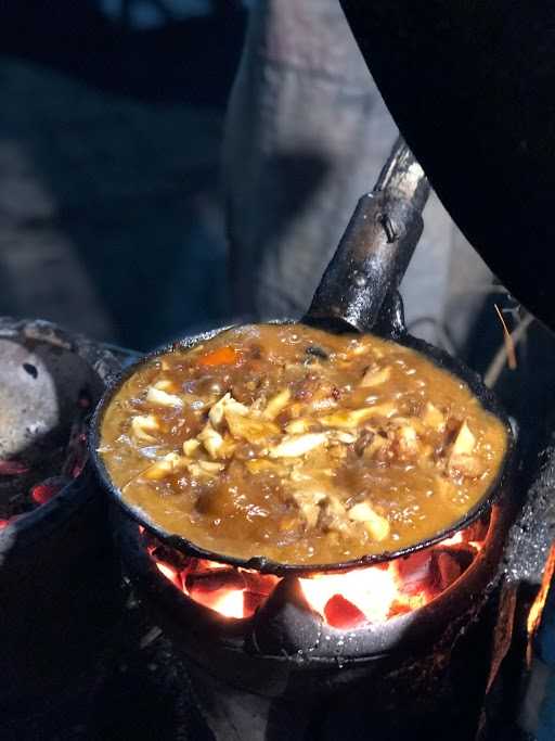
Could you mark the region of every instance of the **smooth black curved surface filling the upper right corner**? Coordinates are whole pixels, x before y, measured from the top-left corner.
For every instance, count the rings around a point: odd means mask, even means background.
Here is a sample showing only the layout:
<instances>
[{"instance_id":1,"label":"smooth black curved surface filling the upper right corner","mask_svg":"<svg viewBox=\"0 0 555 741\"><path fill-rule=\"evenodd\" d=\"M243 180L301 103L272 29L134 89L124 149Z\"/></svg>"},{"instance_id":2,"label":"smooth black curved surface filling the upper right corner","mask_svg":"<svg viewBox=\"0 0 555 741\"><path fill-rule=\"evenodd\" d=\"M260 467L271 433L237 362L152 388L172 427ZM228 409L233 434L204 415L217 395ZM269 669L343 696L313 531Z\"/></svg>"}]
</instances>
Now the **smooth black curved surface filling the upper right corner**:
<instances>
[{"instance_id":1,"label":"smooth black curved surface filling the upper right corner","mask_svg":"<svg viewBox=\"0 0 555 741\"><path fill-rule=\"evenodd\" d=\"M555 329L555 4L340 2L444 206L508 290Z\"/></svg>"}]
</instances>

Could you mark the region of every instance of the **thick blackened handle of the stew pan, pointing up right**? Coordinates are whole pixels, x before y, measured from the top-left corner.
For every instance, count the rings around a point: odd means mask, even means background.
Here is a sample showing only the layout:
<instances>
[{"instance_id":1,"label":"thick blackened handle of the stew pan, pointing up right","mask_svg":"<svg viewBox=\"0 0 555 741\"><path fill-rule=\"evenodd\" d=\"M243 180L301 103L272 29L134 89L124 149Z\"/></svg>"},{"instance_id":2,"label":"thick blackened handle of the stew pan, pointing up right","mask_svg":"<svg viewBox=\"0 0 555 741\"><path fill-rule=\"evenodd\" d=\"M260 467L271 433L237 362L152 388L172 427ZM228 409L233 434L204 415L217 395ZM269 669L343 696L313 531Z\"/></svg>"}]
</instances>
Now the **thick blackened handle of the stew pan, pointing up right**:
<instances>
[{"instance_id":1,"label":"thick blackened handle of the stew pan, pointing up right","mask_svg":"<svg viewBox=\"0 0 555 741\"><path fill-rule=\"evenodd\" d=\"M359 332L404 331L397 289L424 228L429 190L399 137L376 187L360 199L305 321Z\"/></svg>"}]
</instances>

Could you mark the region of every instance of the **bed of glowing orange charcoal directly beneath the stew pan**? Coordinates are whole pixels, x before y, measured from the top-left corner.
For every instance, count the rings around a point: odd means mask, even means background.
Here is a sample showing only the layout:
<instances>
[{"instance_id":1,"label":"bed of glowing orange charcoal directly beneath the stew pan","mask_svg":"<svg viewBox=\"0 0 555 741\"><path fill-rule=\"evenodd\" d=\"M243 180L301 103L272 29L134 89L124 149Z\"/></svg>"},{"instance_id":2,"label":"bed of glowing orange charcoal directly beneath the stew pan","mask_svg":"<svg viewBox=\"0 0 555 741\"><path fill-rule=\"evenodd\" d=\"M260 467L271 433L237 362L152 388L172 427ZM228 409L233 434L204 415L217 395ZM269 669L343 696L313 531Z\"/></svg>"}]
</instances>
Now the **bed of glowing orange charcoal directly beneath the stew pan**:
<instances>
[{"instance_id":1,"label":"bed of glowing orange charcoal directly beneath the stew pan","mask_svg":"<svg viewBox=\"0 0 555 741\"><path fill-rule=\"evenodd\" d=\"M144 528L140 533L159 572L192 600L224 617L250 617L281 580L184 558L157 546ZM299 578L299 584L307 603L332 627L347 630L383 623L423 608L454 584L482 548L486 535L487 525L478 531L470 526L405 558L350 572L314 574Z\"/></svg>"}]
</instances>

